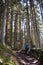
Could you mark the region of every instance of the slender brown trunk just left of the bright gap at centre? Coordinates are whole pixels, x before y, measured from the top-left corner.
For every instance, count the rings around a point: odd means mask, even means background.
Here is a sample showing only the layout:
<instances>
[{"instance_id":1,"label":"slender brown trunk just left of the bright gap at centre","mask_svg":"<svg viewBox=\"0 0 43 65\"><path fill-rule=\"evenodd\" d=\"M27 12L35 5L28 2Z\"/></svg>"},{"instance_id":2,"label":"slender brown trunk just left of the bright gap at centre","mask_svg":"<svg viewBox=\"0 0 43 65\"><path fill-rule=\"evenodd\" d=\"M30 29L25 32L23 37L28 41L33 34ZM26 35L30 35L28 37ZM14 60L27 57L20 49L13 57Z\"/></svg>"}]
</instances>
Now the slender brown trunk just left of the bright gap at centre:
<instances>
[{"instance_id":1,"label":"slender brown trunk just left of the bright gap at centre","mask_svg":"<svg viewBox=\"0 0 43 65\"><path fill-rule=\"evenodd\" d=\"M17 34L18 34L18 36L17 36L17 43L18 43L18 50L20 50L21 48L22 48L22 45L23 45L23 43L22 43L22 40L21 40L21 17L20 17L21 15L20 15L20 11L18 11L18 30L17 30Z\"/></svg>"}]
</instances>

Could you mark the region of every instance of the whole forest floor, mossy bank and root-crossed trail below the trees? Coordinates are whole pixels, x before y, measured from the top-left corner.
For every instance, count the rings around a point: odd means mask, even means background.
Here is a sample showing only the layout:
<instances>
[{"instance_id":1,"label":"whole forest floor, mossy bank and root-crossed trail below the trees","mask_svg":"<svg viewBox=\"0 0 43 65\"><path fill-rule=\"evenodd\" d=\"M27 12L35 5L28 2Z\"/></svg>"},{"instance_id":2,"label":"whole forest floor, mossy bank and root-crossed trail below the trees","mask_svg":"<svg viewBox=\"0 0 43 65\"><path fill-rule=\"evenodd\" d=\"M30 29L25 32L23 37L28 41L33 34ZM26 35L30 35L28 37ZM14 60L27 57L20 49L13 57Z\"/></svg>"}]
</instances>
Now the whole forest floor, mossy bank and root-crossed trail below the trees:
<instances>
[{"instance_id":1,"label":"whole forest floor, mossy bank and root-crossed trail below the trees","mask_svg":"<svg viewBox=\"0 0 43 65\"><path fill-rule=\"evenodd\" d=\"M37 59L39 57L38 53L40 51L33 50L30 52L30 55L32 55L30 56L11 50L8 46L0 45L0 65L39 65L40 62ZM43 59L43 53L41 56Z\"/></svg>"}]
</instances>

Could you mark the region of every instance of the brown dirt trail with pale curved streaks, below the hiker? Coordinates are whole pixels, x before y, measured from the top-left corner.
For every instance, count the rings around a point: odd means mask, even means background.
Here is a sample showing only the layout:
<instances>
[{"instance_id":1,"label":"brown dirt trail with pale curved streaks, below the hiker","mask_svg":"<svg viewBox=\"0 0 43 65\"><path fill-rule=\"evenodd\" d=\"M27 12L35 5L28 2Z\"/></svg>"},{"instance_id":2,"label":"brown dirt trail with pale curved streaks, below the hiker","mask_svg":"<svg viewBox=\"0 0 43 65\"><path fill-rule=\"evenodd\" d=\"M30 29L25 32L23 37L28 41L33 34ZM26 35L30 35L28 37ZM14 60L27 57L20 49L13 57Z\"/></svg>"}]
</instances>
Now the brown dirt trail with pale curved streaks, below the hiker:
<instances>
[{"instance_id":1,"label":"brown dirt trail with pale curved streaks, below the hiker","mask_svg":"<svg viewBox=\"0 0 43 65\"><path fill-rule=\"evenodd\" d=\"M16 54L17 61L19 65L39 65L37 59L30 57L29 55L17 53Z\"/></svg>"}]
</instances>

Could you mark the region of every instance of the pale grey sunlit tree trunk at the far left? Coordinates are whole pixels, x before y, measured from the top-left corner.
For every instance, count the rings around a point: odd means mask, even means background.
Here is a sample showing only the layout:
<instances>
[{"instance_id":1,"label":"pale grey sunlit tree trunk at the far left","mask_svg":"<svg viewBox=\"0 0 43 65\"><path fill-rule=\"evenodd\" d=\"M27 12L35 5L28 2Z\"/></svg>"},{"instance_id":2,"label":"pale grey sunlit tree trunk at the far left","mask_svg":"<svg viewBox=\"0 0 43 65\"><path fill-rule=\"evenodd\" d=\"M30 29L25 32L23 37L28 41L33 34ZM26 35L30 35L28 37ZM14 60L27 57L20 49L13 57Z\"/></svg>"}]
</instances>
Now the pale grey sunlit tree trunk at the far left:
<instances>
[{"instance_id":1,"label":"pale grey sunlit tree trunk at the far left","mask_svg":"<svg viewBox=\"0 0 43 65\"><path fill-rule=\"evenodd\" d=\"M7 11L7 7L6 7L6 2L3 3L3 22L2 22L2 44L5 44L5 30L6 30L6 11Z\"/></svg>"}]
</instances>

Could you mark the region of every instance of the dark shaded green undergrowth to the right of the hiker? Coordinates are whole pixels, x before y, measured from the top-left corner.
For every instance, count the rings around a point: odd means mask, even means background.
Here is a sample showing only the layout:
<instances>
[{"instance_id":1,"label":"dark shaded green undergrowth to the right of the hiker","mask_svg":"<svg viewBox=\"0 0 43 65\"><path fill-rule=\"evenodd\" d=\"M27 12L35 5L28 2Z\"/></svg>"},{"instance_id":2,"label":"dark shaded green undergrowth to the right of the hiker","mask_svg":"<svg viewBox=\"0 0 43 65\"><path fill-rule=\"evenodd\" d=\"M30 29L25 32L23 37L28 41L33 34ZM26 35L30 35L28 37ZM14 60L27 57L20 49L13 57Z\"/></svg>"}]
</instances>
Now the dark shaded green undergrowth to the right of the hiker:
<instances>
[{"instance_id":1,"label":"dark shaded green undergrowth to the right of the hiker","mask_svg":"<svg viewBox=\"0 0 43 65\"><path fill-rule=\"evenodd\" d=\"M30 50L30 55L37 58L37 59L39 59L43 56L43 51L42 51L42 49L31 49Z\"/></svg>"}]
</instances>

